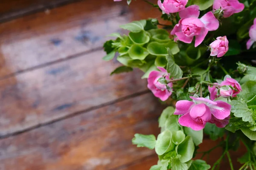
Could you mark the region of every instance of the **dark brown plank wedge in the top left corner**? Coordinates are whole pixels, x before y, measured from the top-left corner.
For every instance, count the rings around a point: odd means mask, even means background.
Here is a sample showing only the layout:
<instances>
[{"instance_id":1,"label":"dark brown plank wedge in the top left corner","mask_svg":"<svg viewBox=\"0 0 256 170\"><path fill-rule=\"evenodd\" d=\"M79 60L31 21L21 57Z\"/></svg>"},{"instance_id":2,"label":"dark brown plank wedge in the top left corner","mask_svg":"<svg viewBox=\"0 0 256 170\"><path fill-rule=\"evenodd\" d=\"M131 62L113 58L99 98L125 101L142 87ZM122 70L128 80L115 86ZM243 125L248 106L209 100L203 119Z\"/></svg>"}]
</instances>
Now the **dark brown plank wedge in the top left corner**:
<instances>
[{"instance_id":1,"label":"dark brown plank wedge in the top left corner","mask_svg":"<svg viewBox=\"0 0 256 170\"><path fill-rule=\"evenodd\" d=\"M0 22L22 17L37 11L56 8L77 0L1 0Z\"/></svg>"}]
</instances>

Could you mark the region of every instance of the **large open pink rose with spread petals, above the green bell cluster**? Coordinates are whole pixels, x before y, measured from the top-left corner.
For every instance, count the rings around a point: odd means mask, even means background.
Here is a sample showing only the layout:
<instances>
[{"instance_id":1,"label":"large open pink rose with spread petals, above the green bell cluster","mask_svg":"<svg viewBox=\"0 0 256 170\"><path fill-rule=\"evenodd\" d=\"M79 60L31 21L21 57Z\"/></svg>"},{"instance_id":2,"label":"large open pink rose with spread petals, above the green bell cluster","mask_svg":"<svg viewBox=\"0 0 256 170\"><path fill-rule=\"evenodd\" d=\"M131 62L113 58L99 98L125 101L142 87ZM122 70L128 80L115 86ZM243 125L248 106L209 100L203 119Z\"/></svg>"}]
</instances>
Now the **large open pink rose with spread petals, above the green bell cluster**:
<instances>
[{"instance_id":1,"label":"large open pink rose with spread petals, above the green bell cluster","mask_svg":"<svg viewBox=\"0 0 256 170\"><path fill-rule=\"evenodd\" d=\"M199 6L192 5L179 12L180 20L175 25L171 34L185 43L191 43L195 36L195 47L200 45L208 31L215 31L219 27L218 20L213 13L207 12L203 17L199 17Z\"/></svg>"}]
</instances>

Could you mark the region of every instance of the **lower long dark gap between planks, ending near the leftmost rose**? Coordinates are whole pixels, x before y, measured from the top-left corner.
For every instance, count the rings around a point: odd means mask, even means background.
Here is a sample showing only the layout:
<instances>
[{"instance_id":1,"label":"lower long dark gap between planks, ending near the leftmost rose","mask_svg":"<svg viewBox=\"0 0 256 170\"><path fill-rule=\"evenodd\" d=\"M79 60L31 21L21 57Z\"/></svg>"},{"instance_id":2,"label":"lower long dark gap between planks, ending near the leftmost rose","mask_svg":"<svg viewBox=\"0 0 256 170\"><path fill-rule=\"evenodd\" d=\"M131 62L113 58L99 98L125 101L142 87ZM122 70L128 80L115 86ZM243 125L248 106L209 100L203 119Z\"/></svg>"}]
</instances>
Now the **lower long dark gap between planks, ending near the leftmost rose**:
<instances>
[{"instance_id":1,"label":"lower long dark gap between planks, ending near the leftmost rose","mask_svg":"<svg viewBox=\"0 0 256 170\"><path fill-rule=\"evenodd\" d=\"M110 102L103 103L101 105L96 105L96 106L93 106L91 108L87 108L87 109L84 109L84 110L81 110L81 111L77 111L77 112L71 113L71 114L69 114L67 116L63 116L63 117L60 117L58 119L54 119L54 120L46 122L46 123L38 124L36 126L28 127L26 129L23 129L23 130L20 130L20 131L16 131L16 132L13 132L13 133L9 133L9 134L0 136L0 139L6 139L6 138L11 137L11 136L19 135L21 133L25 133L25 132L28 132L30 130L37 129L39 127L51 125L51 124L53 124L55 122L58 122L58 121L61 121L61 120L64 120L64 119L69 119L71 117L74 117L74 116L77 116L77 115L80 115L80 114L83 114L83 113L87 113L89 111L93 111L93 110L96 110L96 109L99 109L99 108L103 108L103 107L108 106L108 105L113 105L115 103L122 102L122 101L125 101L127 99L131 99L131 98L143 95L143 94L147 94L149 92L150 92L150 90L144 90L144 91L141 91L141 92L138 92L138 93L135 93L135 94L124 96L124 97L121 97L119 99L115 99L115 100L112 100Z\"/></svg>"}]
</instances>

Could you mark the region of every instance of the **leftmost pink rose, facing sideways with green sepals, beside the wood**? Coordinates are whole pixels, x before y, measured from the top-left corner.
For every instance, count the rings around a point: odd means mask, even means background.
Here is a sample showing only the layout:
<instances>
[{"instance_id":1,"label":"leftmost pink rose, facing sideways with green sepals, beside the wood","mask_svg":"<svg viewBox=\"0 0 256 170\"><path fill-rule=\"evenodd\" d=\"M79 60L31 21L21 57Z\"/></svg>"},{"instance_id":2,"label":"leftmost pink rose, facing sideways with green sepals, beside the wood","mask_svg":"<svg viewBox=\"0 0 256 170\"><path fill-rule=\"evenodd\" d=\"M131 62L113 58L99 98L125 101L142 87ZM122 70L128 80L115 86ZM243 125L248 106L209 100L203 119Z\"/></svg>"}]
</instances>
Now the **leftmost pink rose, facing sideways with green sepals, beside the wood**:
<instances>
[{"instance_id":1,"label":"leftmost pink rose, facing sideways with green sepals, beside the wood","mask_svg":"<svg viewBox=\"0 0 256 170\"><path fill-rule=\"evenodd\" d=\"M148 88L152 91L154 96L158 97L162 101L168 99L169 96L172 95L171 91L166 89L166 85L161 84L157 80L161 77L165 77L166 80L169 79L170 74L167 73L166 69L162 67L157 67L160 71L151 71L148 76ZM167 84L170 88L172 88L172 82Z\"/></svg>"}]
</instances>

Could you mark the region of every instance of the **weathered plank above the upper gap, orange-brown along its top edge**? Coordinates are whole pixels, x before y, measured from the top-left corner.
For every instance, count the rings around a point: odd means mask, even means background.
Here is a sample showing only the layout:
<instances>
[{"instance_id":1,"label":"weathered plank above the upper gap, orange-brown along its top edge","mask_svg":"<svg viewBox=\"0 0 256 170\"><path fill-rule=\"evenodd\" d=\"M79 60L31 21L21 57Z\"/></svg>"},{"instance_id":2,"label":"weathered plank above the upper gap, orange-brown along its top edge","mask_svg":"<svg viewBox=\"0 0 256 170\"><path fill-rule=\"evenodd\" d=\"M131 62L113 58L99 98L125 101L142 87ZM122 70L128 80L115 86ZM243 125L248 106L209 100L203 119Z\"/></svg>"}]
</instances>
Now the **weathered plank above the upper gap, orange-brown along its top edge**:
<instances>
[{"instance_id":1,"label":"weathered plank above the upper gap, orange-brown along its top edge","mask_svg":"<svg viewBox=\"0 0 256 170\"><path fill-rule=\"evenodd\" d=\"M100 48L119 25L159 14L143 1L83 0L2 23L0 78Z\"/></svg>"}]
</instances>

